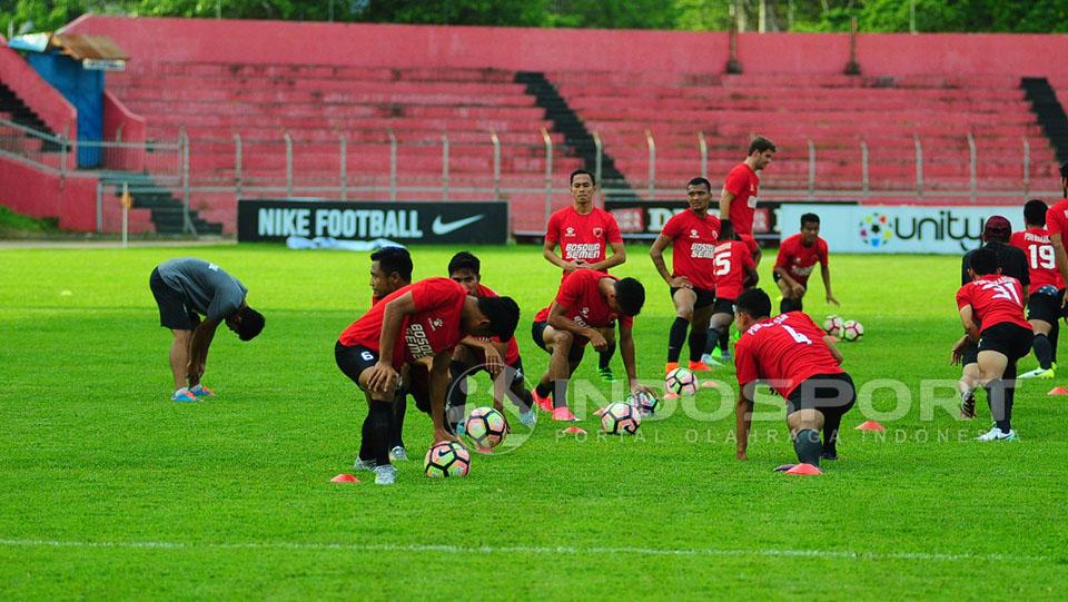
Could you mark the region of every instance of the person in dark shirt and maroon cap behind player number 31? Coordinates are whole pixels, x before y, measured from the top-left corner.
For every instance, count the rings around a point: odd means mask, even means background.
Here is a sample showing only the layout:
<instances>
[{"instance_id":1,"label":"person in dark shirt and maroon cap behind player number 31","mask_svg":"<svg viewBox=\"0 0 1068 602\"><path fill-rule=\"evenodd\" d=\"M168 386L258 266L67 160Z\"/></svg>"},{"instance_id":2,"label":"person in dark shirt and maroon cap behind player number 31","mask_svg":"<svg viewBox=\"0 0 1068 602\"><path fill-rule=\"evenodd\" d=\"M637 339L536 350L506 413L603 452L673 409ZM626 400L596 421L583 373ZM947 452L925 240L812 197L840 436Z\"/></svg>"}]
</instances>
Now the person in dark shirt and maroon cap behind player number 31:
<instances>
[{"instance_id":1,"label":"person in dark shirt and maroon cap behind player number 31","mask_svg":"<svg viewBox=\"0 0 1068 602\"><path fill-rule=\"evenodd\" d=\"M998 256L998 266L1006 276L1011 276L1024 285L1024 296L1027 297L1027 287L1030 283L1030 275L1027 268L1027 256L1022 250L1009 245L1009 238L1012 236L1012 225L1005 216L993 215L987 218L982 226L981 248L992 249ZM960 286L971 282L971 274L968 272L971 267L971 257L978 249L972 249L965 254L960 261ZM966 418L972 418L976 415L976 399L971 395L966 395L971 387L969 383L979 379L979 347L968 344L961 348L960 363L963 366L958 384L961 394L960 414Z\"/></svg>"}]
</instances>

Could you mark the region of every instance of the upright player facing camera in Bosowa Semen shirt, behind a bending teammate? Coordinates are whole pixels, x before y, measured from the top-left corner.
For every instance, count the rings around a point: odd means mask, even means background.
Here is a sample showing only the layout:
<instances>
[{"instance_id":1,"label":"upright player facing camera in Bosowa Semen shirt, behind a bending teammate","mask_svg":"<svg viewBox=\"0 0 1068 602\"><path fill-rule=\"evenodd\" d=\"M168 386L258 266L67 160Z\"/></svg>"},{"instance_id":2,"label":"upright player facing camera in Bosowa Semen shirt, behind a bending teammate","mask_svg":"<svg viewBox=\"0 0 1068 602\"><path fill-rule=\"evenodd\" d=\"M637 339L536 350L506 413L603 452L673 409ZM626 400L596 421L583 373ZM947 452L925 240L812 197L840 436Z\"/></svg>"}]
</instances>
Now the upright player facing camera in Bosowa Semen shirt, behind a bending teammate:
<instances>
[{"instance_id":1,"label":"upright player facing camera in Bosowa Semen shirt, behind a bending teammate","mask_svg":"<svg viewBox=\"0 0 1068 602\"><path fill-rule=\"evenodd\" d=\"M594 206L593 197L597 182L593 174L576 169L572 171L570 182L574 203L550 216L542 255L550 264L563 268L564 277L577 269L607 273L626 261L620 225L612 214ZM557 245L560 255L556 255ZM606 249L610 246L612 255L607 255ZM611 363L615 355L615 336L610 334L607 345L597 349L597 373L601 378L614 379Z\"/></svg>"}]
</instances>

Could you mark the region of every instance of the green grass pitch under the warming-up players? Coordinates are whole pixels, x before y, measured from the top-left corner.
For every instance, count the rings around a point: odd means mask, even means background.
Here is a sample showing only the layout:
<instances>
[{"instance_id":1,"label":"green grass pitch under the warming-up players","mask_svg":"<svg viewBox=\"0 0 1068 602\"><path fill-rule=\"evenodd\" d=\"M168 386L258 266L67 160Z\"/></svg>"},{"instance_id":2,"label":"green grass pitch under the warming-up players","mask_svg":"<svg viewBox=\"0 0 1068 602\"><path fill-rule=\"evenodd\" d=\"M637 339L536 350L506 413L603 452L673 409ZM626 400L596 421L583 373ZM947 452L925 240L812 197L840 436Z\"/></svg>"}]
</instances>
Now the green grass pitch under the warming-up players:
<instances>
[{"instance_id":1,"label":"green grass pitch under the warming-up players","mask_svg":"<svg viewBox=\"0 0 1068 602\"><path fill-rule=\"evenodd\" d=\"M413 249L415 276L444 275L453 250ZM530 320L560 274L535 247L473 250L484 283L523 308L536 378L547 356ZM673 312L646 247L627 251L615 273L647 287L639 371L655 381ZM182 255L237 275L267 316L251 344L220 330L205 379L218 396L194 405L168 401L170 334L148 289L151 268ZM824 476L772 472L793 458L774 398L735 461L733 414L701 418L733 399L702 391L639 437L593 436L593 401L585 440L543 415L524 445L449 481L422 476L431 430L413 405L416 460L376 487L329 482L352 472L366 412L333 358L368 305L366 255L2 250L0 599L1064 599L1068 402L1046 392L1066 379L1024 385L1010 444L971 441L989 427L985 396L973 422L921 403L932 386L952 397L958 261L832 256L841 309L814 278L811 315L867 327L841 346L858 385L894 379L912 398L882 416L884 437L847 415ZM587 354L576 376L607 395L594 368ZM733 368L714 374L730 383ZM887 387L868 404L893 405Z\"/></svg>"}]
</instances>

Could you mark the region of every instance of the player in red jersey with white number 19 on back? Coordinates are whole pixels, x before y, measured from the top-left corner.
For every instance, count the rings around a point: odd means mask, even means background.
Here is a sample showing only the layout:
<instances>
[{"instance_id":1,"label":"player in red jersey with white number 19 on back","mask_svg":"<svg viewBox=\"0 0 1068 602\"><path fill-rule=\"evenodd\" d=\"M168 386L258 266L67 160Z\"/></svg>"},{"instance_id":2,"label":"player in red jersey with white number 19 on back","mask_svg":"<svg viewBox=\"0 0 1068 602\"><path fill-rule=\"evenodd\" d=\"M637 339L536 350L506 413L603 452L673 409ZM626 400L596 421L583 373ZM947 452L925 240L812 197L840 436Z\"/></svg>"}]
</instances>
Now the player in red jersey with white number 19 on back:
<instances>
[{"instance_id":1,"label":"player in red jersey with white number 19 on back","mask_svg":"<svg viewBox=\"0 0 1068 602\"><path fill-rule=\"evenodd\" d=\"M1030 295L1027 297L1027 322L1035 332L1031 343L1038 367L1020 375L1020 378L1052 378L1057 369L1057 335L1060 330L1058 318L1064 315L1060 307L1060 289L1065 287L1057 272L1057 257L1054 245L1046 231L1046 201L1032 198L1024 205L1024 227L1012 233L1010 243L1024 251L1027 257Z\"/></svg>"}]
</instances>

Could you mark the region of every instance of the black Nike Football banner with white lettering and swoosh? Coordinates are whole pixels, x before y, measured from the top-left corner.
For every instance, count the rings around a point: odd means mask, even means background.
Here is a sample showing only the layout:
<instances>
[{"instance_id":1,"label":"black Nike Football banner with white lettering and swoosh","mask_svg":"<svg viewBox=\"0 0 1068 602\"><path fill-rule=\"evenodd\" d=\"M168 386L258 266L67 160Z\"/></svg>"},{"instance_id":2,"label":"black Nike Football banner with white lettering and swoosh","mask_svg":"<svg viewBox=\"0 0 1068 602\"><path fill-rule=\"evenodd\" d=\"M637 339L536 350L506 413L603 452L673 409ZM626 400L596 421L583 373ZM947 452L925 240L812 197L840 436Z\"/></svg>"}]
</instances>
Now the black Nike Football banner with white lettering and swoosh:
<instances>
[{"instance_id":1,"label":"black Nike Football banner with white lettering and swoosh","mask_svg":"<svg viewBox=\"0 0 1068 602\"><path fill-rule=\"evenodd\" d=\"M508 204L293 199L238 201L238 240L284 241L289 236L503 245L508 239Z\"/></svg>"}]
</instances>

